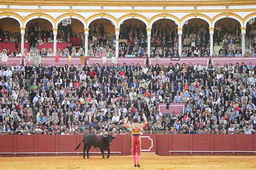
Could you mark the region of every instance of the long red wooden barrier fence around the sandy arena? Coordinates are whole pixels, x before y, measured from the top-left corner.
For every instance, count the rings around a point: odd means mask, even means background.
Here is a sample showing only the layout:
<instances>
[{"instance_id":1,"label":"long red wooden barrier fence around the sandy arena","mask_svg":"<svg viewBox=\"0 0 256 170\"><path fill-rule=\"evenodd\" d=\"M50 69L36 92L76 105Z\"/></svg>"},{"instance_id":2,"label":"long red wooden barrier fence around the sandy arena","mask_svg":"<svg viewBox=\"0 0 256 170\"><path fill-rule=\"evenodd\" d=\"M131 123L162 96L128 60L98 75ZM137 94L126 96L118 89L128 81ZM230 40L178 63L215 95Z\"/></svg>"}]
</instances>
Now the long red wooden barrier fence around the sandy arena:
<instances>
[{"instance_id":1,"label":"long red wooden barrier fence around the sandy arena","mask_svg":"<svg viewBox=\"0 0 256 170\"><path fill-rule=\"evenodd\" d=\"M158 155L255 155L256 135L170 134L142 135L142 153ZM2 135L0 156L82 155L83 135ZM131 135L118 135L110 146L112 155L130 155ZM90 154L101 154L91 147Z\"/></svg>"}]
</instances>

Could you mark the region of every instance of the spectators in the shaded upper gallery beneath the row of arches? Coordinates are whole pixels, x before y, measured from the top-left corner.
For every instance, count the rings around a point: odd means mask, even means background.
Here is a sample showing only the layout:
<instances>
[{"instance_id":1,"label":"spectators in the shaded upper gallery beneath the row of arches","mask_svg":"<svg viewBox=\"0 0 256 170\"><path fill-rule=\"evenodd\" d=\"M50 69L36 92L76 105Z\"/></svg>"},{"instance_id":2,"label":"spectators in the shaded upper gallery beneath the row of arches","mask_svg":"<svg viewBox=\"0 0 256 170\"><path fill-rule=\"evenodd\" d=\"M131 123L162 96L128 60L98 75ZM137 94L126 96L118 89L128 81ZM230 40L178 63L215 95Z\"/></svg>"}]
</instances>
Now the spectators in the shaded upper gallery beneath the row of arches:
<instances>
[{"instance_id":1,"label":"spectators in the shaded upper gallery beneath the row of arches","mask_svg":"<svg viewBox=\"0 0 256 170\"><path fill-rule=\"evenodd\" d=\"M256 28L255 24L246 27L244 56L256 56ZM120 27L120 39L127 39L126 43L120 43L118 48L119 57L209 57L210 56L210 33L208 26L197 24L185 24L182 30L182 54L178 54L178 33L176 25L153 24L151 29L151 47L150 54L147 54L147 30L145 25L126 25ZM214 29L214 46L222 46L218 52L213 52L212 56L242 56L241 49L241 28L238 24L228 23L216 24ZM15 42L18 48L21 39L20 33L11 33L0 30L1 41ZM84 49L84 33L75 33L71 25L64 26L62 22L58 25L57 43L71 43L71 37L80 37L81 44L75 48L76 56L80 56L80 48ZM46 30L39 23L30 24L25 32L25 42L30 43L30 47L35 47L36 43L52 43L53 31ZM57 50L58 56L67 56L72 53L72 45L66 49ZM68 51L67 51L68 49ZM249 51L251 49L251 51ZM8 49L7 49L8 50ZM42 56L48 55L48 51L40 51ZM91 57L115 57L116 56L116 37L108 36L103 24L90 24L88 35L88 56ZM11 52L10 52L11 54ZM19 55L18 51L13 52L11 56ZM46 54L46 55L45 55ZM73 55L75 56L75 55Z\"/></svg>"}]
</instances>

